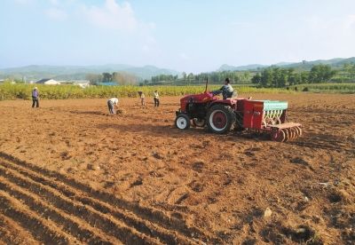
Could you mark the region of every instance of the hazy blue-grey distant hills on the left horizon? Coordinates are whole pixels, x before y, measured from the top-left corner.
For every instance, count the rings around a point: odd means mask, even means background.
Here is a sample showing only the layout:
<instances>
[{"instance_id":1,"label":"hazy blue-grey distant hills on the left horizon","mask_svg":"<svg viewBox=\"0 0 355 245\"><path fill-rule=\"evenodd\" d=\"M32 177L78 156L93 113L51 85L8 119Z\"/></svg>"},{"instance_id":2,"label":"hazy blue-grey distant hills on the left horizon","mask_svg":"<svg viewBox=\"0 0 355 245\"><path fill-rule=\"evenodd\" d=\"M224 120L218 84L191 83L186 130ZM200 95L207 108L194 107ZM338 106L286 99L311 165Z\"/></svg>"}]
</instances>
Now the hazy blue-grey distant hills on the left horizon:
<instances>
[{"instance_id":1,"label":"hazy blue-grey distant hills on the left horizon","mask_svg":"<svg viewBox=\"0 0 355 245\"><path fill-rule=\"evenodd\" d=\"M141 79L150 79L153 75L178 75L174 70L154 66L133 67L129 65L104 66L27 66L0 69L0 79L12 76L21 79L26 76L29 80L54 78L57 80L85 79L87 74L102 74L104 72L127 72Z\"/></svg>"}]
</instances>

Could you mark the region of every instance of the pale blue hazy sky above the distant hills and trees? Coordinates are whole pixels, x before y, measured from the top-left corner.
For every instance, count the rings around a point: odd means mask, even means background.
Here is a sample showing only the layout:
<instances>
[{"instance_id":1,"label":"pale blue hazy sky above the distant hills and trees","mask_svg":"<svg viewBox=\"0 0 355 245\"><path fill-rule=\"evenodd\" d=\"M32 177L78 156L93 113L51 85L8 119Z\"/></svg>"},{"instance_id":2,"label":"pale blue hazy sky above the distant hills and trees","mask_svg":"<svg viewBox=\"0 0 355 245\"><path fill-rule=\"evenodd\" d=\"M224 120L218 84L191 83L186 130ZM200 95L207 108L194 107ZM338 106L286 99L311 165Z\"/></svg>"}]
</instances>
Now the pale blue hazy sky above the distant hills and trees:
<instances>
[{"instance_id":1,"label":"pale blue hazy sky above the distant hills and trees","mask_svg":"<svg viewBox=\"0 0 355 245\"><path fill-rule=\"evenodd\" d=\"M354 0L1 0L0 68L223 64L355 56Z\"/></svg>"}]
</instances>

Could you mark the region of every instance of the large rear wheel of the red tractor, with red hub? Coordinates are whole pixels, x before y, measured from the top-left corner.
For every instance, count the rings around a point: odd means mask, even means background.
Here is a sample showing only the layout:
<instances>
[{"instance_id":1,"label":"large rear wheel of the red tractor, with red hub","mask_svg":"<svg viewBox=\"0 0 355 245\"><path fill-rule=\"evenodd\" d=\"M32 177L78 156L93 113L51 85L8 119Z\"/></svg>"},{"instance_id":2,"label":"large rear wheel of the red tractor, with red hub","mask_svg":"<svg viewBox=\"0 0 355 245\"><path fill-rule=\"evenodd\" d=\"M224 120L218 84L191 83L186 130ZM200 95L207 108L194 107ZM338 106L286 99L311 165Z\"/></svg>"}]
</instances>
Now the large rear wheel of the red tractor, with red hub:
<instances>
[{"instance_id":1,"label":"large rear wheel of the red tractor, with red hub","mask_svg":"<svg viewBox=\"0 0 355 245\"><path fill-rule=\"evenodd\" d=\"M236 116L233 109L225 105L210 107L206 119L209 130L218 134L233 130L236 123Z\"/></svg>"}]
</instances>

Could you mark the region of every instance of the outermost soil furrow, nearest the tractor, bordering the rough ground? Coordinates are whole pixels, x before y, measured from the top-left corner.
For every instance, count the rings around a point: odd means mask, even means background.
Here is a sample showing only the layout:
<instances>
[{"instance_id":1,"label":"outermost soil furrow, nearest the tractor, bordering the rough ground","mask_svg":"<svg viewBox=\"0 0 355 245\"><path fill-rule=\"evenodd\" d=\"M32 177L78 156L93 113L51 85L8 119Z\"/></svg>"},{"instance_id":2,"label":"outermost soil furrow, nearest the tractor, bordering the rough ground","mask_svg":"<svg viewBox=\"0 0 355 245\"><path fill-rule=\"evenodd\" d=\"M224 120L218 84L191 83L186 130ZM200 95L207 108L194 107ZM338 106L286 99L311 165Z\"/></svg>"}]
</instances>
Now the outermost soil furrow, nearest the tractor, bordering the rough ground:
<instances>
[{"instance_id":1,"label":"outermost soil furrow, nearest the tractor, bordering the rough ground","mask_svg":"<svg viewBox=\"0 0 355 245\"><path fill-rule=\"evenodd\" d=\"M8 162L11 162L12 164L21 166L23 168L26 168L27 170L34 171L37 174L42 175L43 177L52 178L52 179L54 178L58 182L63 183L66 186L70 186L75 190L78 190L83 194L86 194L91 198L94 198L95 200L98 200L100 202L105 202L118 209L125 209L127 211L130 211L134 213L134 215L136 215L137 217L140 217L141 219L146 219L154 223L155 225L162 226L167 230L180 233L186 238L190 238L192 241L195 241L197 239L204 242L212 242L212 243L221 242L219 239L214 238L210 234L202 232L197 227L191 227L186 225L183 220L165 215L159 209L143 207L138 205L138 203L135 202L127 202L125 200L122 200L114 196L113 194L108 194L106 192L101 192L92 189L90 186L86 186L83 183L76 181L74 178L67 178L65 175L59 174L58 172L45 170L34 164L21 161L20 159L13 157L10 154L5 154L4 152L0 152L0 157L3 158L4 160L7 160Z\"/></svg>"}]
</instances>

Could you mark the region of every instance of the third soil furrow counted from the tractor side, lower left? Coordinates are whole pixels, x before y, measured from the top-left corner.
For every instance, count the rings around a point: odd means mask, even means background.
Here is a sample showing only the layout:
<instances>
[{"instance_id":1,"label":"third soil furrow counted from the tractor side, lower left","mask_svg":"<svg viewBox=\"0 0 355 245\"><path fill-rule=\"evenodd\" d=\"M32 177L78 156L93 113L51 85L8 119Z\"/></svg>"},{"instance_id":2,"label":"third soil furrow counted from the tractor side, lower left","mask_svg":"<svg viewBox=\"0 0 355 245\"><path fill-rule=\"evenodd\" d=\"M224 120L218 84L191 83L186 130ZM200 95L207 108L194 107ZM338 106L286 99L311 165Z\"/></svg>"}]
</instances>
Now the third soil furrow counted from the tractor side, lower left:
<instances>
[{"instance_id":1,"label":"third soil furrow counted from the tractor side, lower left","mask_svg":"<svg viewBox=\"0 0 355 245\"><path fill-rule=\"evenodd\" d=\"M111 216L99 213L91 207L85 206L82 203L75 202L62 196L57 190L43 186L31 179L23 177L20 173L14 170L4 169L0 164L0 176L3 176L8 181L16 186L20 186L28 190L28 192L40 195L43 200L50 202L54 207L61 209L69 215L81 218L93 227L99 228L103 233L112 235L123 243L129 244L152 244L158 243L154 239L150 239L138 233L137 231L127 227L126 225L117 222Z\"/></svg>"}]
</instances>

